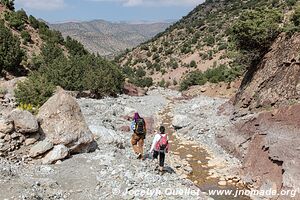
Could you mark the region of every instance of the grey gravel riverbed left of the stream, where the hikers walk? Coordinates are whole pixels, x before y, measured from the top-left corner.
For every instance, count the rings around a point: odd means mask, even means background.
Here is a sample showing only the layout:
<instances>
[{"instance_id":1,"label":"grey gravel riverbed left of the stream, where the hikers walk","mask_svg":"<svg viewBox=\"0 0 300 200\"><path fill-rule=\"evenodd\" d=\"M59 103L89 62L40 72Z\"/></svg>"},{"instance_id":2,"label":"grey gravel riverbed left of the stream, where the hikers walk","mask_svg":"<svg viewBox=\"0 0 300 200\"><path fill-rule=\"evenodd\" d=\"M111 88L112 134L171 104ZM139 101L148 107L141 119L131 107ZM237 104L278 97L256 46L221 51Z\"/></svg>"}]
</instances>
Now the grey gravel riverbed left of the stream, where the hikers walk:
<instances>
[{"instance_id":1,"label":"grey gravel riverbed left of the stream, where the hikers walk","mask_svg":"<svg viewBox=\"0 0 300 200\"><path fill-rule=\"evenodd\" d=\"M166 93L180 96L177 92ZM168 157L166 172L160 176L156 163L137 160L132 152L131 133L126 131L128 116L139 111L152 126L145 148L149 149L151 130L160 123L156 116L167 104L161 91L144 97L80 99L78 103L96 136L98 149L72 155L54 165L1 158L0 199L209 199L181 176L189 168L176 156ZM176 169L178 164L182 169Z\"/></svg>"}]
</instances>

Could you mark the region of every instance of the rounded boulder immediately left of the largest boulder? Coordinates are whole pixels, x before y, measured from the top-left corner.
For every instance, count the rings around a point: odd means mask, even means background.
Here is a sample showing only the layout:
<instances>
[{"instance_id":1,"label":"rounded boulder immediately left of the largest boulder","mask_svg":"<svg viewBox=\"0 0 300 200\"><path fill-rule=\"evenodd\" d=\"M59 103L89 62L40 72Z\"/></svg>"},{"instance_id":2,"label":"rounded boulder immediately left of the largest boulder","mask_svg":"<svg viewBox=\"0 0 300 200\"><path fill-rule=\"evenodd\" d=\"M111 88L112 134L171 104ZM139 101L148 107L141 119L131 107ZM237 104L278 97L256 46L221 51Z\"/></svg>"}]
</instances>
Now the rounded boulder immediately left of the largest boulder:
<instances>
[{"instance_id":1,"label":"rounded boulder immediately left of the largest boulder","mask_svg":"<svg viewBox=\"0 0 300 200\"><path fill-rule=\"evenodd\" d=\"M9 119L14 122L15 130L19 133L34 133L39 130L39 124L35 116L26 110L13 110Z\"/></svg>"}]
</instances>

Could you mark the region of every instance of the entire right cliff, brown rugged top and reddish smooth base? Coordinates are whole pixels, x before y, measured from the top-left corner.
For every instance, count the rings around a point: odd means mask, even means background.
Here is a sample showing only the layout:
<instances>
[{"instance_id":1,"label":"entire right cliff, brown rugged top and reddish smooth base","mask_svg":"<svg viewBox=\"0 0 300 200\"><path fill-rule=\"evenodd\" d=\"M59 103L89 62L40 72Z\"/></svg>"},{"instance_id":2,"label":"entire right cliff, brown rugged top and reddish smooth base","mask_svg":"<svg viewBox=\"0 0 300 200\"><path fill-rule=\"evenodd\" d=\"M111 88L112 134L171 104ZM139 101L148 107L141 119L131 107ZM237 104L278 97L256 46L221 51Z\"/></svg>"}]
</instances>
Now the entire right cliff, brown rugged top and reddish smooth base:
<instances>
[{"instance_id":1,"label":"entire right cliff, brown rugged top and reddish smooth base","mask_svg":"<svg viewBox=\"0 0 300 200\"><path fill-rule=\"evenodd\" d=\"M300 188L299 97L300 34L281 34L246 73L233 99L233 126L218 136L218 143L242 161L243 180L253 188Z\"/></svg>"}]
</instances>

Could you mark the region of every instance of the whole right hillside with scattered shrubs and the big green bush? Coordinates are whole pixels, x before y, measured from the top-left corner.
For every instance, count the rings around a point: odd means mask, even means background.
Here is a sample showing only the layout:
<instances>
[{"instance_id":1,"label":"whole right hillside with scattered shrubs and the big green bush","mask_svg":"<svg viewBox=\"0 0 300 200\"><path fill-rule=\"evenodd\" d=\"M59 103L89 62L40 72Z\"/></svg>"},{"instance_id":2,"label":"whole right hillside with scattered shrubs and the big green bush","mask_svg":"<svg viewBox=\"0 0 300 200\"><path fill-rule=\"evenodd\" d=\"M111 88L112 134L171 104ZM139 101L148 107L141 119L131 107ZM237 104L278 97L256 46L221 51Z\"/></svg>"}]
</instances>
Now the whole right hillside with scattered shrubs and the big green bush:
<instances>
[{"instance_id":1,"label":"whole right hillside with scattered shrubs and the big green bush","mask_svg":"<svg viewBox=\"0 0 300 200\"><path fill-rule=\"evenodd\" d=\"M298 6L296 0L207 0L117 61L129 76L144 71L164 86L231 82L278 34L297 31Z\"/></svg>"}]
</instances>

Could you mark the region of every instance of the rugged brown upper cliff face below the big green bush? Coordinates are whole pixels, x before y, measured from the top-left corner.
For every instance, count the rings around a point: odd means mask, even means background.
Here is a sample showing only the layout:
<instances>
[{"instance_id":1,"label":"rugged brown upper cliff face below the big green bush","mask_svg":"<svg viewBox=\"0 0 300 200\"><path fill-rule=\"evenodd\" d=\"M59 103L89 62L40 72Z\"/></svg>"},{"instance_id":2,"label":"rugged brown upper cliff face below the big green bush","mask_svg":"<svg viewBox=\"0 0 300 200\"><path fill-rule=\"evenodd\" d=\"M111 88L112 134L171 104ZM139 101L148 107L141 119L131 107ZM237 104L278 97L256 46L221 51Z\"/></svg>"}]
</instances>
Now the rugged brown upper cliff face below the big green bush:
<instances>
[{"instance_id":1,"label":"rugged brown upper cliff face below the big green bush","mask_svg":"<svg viewBox=\"0 0 300 200\"><path fill-rule=\"evenodd\" d=\"M248 70L234 99L238 109L256 110L296 103L300 97L300 34L281 34Z\"/></svg>"}]
</instances>

